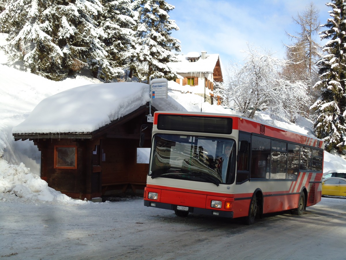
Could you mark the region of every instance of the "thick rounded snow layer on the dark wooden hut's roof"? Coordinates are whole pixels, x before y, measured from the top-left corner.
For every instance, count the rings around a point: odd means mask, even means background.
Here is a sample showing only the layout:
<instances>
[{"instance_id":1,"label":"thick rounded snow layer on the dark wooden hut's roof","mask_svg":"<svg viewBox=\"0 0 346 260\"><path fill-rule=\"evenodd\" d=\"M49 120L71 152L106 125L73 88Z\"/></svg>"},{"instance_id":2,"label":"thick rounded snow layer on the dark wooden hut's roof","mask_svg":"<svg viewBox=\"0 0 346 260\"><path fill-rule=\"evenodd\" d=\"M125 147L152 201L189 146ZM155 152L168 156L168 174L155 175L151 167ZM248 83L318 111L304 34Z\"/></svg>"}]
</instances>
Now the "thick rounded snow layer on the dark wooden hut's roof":
<instances>
[{"instance_id":1,"label":"thick rounded snow layer on the dark wooden hut's roof","mask_svg":"<svg viewBox=\"0 0 346 260\"><path fill-rule=\"evenodd\" d=\"M170 93L171 95L173 93ZM103 83L79 86L43 99L13 134L90 133L149 101L145 83ZM158 110L186 111L170 95L153 100Z\"/></svg>"}]
</instances>

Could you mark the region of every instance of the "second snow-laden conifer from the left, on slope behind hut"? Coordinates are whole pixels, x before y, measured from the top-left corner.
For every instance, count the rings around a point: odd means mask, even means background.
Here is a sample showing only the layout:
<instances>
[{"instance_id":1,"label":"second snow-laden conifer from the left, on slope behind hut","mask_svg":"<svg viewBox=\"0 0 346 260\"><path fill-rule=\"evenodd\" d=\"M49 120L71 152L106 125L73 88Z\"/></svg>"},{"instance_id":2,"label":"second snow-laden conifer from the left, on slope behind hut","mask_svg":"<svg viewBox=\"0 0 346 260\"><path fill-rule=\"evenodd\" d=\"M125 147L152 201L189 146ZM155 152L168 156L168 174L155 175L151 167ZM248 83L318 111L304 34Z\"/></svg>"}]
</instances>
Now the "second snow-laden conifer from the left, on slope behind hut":
<instances>
[{"instance_id":1,"label":"second snow-laden conifer from the left, on slope behind hut","mask_svg":"<svg viewBox=\"0 0 346 260\"><path fill-rule=\"evenodd\" d=\"M99 0L53 0L45 13L47 21L54 21L47 30L56 35L54 42L64 53L63 71L75 75L87 69L95 78L101 73L111 73L101 41L104 34L98 28L98 20L104 13Z\"/></svg>"}]
</instances>

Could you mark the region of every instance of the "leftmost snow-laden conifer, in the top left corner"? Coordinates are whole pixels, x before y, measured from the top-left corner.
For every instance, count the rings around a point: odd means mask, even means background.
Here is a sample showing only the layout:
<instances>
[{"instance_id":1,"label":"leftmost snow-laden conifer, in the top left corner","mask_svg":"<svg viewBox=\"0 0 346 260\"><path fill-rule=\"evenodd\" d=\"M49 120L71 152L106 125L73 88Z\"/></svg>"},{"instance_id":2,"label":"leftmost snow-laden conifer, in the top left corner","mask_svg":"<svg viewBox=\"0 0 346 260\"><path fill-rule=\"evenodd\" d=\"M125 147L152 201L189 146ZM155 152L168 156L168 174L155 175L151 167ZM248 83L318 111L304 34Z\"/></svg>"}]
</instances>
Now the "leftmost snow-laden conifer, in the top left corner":
<instances>
[{"instance_id":1,"label":"leftmost snow-laden conifer, in the top left corner","mask_svg":"<svg viewBox=\"0 0 346 260\"><path fill-rule=\"evenodd\" d=\"M9 33L5 51L13 60L24 60L31 72L60 74L63 53L42 28L47 25L47 2L9 0L0 14L0 26ZM36 58L36 62L33 60Z\"/></svg>"}]
</instances>

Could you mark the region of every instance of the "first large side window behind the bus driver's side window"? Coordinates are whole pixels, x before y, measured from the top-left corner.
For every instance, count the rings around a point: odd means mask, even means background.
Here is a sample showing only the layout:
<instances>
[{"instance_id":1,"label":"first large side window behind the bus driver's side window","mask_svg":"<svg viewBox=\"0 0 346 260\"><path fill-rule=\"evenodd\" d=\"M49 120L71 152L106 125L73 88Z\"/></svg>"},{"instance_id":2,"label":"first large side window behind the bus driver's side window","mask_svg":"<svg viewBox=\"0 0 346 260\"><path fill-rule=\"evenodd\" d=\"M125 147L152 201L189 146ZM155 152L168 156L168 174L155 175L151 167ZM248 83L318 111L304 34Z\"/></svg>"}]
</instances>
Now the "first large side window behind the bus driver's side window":
<instances>
[{"instance_id":1,"label":"first large side window behind the bus driver's side window","mask_svg":"<svg viewBox=\"0 0 346 260\"><path fill-rule=\"evenodd\" d=\"M252 137L251 174L252 179L269 179L271 140Z\"/></svg>"}]
</instances>

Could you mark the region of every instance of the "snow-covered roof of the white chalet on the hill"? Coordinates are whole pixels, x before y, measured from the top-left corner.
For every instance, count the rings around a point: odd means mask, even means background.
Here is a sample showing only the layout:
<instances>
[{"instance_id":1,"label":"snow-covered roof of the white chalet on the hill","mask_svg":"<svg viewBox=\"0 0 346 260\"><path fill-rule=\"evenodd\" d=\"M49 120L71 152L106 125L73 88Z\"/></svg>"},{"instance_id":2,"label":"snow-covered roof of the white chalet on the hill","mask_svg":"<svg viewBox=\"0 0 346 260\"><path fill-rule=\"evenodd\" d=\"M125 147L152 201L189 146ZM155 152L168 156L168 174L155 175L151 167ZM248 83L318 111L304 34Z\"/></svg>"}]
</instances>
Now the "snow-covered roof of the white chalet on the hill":
<instances>
[{"instance_id":1,"label":"snow-covered roof of the white chalet on the hill","mask_svg":"<svg viewBox=\"0 0 346 260\"><path fill-rule=\"evenodd\" d=\"M190 55L190 56L189 56ZM190 72L213 72L216 66L216 62L220 59L219 54L206 54L206 58L200 57L197 61L189 62L188 58L195 58L188 55L177 55L178 62L170 62L169 66L176 73L190 73ZM198 53L198 57L199 57Z\"/></svg>"}]
</instances>

